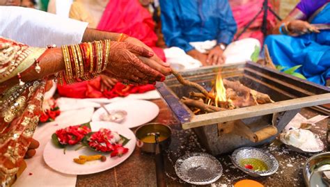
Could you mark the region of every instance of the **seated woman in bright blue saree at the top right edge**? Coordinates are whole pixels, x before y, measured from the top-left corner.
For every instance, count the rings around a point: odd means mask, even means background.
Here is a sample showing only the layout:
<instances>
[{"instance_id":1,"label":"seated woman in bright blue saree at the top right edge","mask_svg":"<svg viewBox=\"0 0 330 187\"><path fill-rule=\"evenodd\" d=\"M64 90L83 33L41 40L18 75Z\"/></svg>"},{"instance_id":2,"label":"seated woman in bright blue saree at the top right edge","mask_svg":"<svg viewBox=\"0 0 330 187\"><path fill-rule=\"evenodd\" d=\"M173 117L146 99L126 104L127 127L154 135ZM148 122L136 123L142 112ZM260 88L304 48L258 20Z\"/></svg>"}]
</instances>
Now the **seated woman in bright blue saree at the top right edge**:
<instances>
[{"instance_id":1,"label":"seated woman in bright blue saree at the top right edge","mask_svg":"<svg viewBox=\"0 0 330 187\"><path fill-rule=\"evenodd\" d=\"M281 35L269 35L265 44L276 65L302 65L297 72L325 85L330 78L330 30L319 31L313 24L330 24L330 0L301 0L274 29Z\"/></svg>"}]
</instances>

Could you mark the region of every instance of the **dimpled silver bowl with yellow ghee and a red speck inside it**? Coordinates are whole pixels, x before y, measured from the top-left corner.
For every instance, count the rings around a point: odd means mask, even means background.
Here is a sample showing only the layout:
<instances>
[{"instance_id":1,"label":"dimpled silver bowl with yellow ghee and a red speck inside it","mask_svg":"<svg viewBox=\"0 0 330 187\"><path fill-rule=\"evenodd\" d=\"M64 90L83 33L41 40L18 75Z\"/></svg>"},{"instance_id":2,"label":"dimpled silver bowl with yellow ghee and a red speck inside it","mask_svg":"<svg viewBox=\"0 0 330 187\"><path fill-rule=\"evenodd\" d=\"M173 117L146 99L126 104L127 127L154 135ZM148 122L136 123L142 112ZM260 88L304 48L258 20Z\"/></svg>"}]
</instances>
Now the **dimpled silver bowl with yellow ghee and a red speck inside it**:
<instances>
[{"instance_id":1,"label":"dimpled silver bowl with yellow ghee and a red speck inside it","mask_svg":"<svg viewBox=\"0 0 330 187\"><path fill-rule=\"evenodd\" d=\"M233 164L252 177L274 174L278 170L278 161L263 149L241 147L231 155Z\"/></svg>"}]
</instances>

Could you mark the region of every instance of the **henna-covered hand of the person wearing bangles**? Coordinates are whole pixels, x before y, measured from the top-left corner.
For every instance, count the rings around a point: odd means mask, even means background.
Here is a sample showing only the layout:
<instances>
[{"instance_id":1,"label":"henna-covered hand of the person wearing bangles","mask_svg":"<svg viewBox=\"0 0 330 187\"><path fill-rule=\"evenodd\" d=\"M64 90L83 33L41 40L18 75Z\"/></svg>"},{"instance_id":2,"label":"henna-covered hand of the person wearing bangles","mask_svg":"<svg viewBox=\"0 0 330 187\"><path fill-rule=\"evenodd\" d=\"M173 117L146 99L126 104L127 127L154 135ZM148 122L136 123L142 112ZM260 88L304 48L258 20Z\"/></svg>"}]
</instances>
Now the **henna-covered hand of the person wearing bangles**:
<instances>
[{"instance_id":1,"label":"henna-covered hand of the person wearing bangles","mask_svg":"<svg viewBox=\"0 0 330 187\"><path fill-rule=\"evenodd\" d=\"M150 58L154 56L152 51L127 42L111 42L109 55L107 70L102 74L124 83L137 85L164 81L165 76L161 71L171 72L169 67L159 66Z\"/></svg>"}]
</instances>

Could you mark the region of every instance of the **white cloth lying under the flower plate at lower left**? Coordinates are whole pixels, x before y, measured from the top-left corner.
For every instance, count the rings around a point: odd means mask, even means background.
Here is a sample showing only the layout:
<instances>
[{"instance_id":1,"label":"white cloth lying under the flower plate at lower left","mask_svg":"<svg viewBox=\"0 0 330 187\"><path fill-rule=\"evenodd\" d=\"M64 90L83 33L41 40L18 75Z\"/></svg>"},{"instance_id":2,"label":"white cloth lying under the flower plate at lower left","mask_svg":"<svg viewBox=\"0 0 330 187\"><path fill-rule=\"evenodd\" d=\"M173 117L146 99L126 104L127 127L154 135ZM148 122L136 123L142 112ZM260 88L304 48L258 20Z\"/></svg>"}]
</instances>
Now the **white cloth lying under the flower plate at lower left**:
<instances>
[{"instance_id":1,"label":"white cloth lying under the flower plate at lower left","mask_svg":"<svg viewBox=\"0 0 330 187\"><path fill-rule=\"evenodd\" d=\"M91 121L94 108L87 107L84 109L65 111L56 117L54 122L38 125L33 138L39 141L40 147L33 158L26 159L27 168L17 179L13 187L36 187L36 186L52 186L52 187L74 187L77 182L77 175L62 174L56 172L46 165L43 159L43 152L46 144L51 140L52 133L56 129L61 129L75 124L83 124Z\"/></svg>"}]
</instances>

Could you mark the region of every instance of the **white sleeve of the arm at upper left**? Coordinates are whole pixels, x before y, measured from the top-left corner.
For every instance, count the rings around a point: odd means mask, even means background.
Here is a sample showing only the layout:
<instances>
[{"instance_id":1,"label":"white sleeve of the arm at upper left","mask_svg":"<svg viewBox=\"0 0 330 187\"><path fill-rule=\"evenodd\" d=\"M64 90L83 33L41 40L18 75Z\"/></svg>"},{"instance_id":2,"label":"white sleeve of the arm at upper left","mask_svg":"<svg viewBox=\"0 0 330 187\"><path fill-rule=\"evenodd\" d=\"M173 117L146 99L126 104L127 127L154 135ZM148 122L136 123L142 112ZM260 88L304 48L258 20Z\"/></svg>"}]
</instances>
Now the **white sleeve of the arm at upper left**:
<instances>
[{"instance_id":1,"label":"white sleeve of the arm at upper left","mask_svg":"<svg viewBox=\"0 0 330 187\"><path fill-rule=\"evenodd\" d=\"M86 22L63 18L33 8L0 6L0 35L32 47L77 44Z\"/></svg>"}]
</instances>

